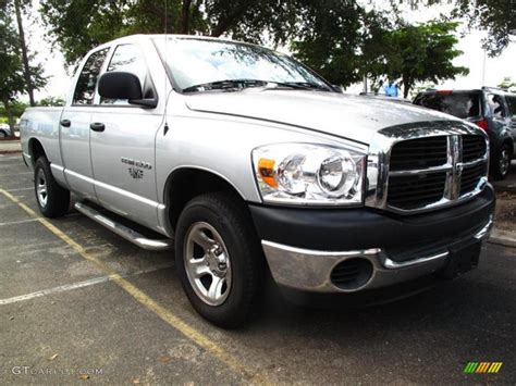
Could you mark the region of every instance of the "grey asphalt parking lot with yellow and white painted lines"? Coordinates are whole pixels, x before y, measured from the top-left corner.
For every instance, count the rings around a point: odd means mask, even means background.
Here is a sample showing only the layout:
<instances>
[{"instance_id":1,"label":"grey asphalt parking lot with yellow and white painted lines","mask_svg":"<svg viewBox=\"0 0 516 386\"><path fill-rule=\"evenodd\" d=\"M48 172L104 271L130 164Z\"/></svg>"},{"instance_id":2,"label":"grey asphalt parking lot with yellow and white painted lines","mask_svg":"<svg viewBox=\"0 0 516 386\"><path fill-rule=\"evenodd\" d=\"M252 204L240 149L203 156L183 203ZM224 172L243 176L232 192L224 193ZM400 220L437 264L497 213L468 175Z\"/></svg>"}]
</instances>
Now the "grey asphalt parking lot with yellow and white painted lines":
<instances>
[{"instance_id":1,"label":"grey asphalt parking lot with yellow and white painted lines","mask_svg":"<svg viewBox=\"0 0 516 386\"><path fill-rule=\"evenodd\" d=\"M0 155L0 383L516 382L516 253L417 296L315 310L270 296L251 323L202 321L171 252L148 252L71 211L37 212L20 154ZM467 362L503 362L465 374Z\"/></svg>"}]
</instances>

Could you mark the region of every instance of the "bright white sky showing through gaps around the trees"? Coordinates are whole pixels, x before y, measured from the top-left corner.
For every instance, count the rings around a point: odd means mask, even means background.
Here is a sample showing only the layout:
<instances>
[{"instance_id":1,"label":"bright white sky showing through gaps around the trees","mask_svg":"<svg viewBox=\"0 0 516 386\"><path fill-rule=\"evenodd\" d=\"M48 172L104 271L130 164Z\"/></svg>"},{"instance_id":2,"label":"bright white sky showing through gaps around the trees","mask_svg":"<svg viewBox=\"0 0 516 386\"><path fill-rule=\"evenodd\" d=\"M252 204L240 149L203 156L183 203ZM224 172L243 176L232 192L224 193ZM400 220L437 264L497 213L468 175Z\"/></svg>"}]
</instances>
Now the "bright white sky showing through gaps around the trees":
<instances>
[{"instance_id":1,"label":"bright white sky showing through gaps around the trees","mask_svg":"<svg viewBox=\"0 0 516 386\"><path fill-rule=\"evenodd\" d=\"M386 7L385 1L364 0L368 7L381 10ZM37 9L38 0L34 0ZM402 7L402 16L410 23L423 23L434 17L439 17L441 13L447 13L451 5L443 4L439 7L411 10L409 7ZM39 60L45 67L46 76L49 76L48 85L36 91L36 100L45 97L61 97L64 99L70 85L70 77L64 67L63 55L59 48L51 47L46 37L46 29L38 20L25 21L25 28L28 30L29 37L27 42L30 49L36 49ZM481 86L496 86L504 77L512 77L516 82L516 42L513 41L496 58L486 58L484 82L482 83L484 51L481 48L481 39L484 32L472 30L465 37L459 37L457 48L464 53L454 60L455 65L463 65L469 69L467 76L459 76L455 80L449 79L439 85L442 89L459 89L459 88L479 88ZM280 49L281 51L281 49ZM347 92L361 91L361 84L352 85L346 89ZM25 98L26 99L26 98Z\"/></svg>"}]
</instances>

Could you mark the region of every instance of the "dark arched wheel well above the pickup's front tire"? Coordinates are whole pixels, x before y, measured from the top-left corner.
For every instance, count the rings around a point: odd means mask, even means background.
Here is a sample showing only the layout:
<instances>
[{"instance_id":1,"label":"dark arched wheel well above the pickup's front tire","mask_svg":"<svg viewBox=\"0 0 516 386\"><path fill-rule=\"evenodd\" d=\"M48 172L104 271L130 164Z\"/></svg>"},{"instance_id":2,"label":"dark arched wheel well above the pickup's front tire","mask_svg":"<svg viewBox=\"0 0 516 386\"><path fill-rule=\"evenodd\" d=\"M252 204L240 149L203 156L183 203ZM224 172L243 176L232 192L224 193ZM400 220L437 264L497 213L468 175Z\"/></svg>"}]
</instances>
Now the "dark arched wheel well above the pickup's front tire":
<instances>
[{"instance_id":1,"label":"dark arched wheel well above the pickup's front tire","mask_svg":"<svg viewBox=\"0 0 516 386\"><path fill-rule=\"evenodd\" d=\"M174 172L167 182L165 203L169 208L169 221L175 229L180 214L193 198L214 191L224 191L244 200L238 191L224 178L211 172L198 169L182 169Z\"/></svg>"}]
</instances>

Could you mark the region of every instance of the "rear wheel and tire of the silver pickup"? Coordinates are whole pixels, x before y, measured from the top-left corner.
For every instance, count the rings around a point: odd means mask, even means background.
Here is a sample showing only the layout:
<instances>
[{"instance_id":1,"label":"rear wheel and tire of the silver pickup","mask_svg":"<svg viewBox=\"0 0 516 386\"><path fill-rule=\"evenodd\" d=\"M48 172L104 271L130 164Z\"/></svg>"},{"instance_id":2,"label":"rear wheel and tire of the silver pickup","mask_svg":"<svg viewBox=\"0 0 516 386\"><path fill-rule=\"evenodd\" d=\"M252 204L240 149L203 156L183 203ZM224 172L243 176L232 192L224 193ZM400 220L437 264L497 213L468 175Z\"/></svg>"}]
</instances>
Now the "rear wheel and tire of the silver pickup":
<instances>
[{"instance_id":1,"label":"rear wheel and tire of the silver pickup","mask_svg":"<svg viewBox=\"0 0 516 386\"><path fill-rule=\"evenodd\" d=\"M34 191L39 211L46 217L61 217L70 207L70 190L62 188L53 178L50 164L45 155L34 165Z\"/></svg>"}]
</instances>

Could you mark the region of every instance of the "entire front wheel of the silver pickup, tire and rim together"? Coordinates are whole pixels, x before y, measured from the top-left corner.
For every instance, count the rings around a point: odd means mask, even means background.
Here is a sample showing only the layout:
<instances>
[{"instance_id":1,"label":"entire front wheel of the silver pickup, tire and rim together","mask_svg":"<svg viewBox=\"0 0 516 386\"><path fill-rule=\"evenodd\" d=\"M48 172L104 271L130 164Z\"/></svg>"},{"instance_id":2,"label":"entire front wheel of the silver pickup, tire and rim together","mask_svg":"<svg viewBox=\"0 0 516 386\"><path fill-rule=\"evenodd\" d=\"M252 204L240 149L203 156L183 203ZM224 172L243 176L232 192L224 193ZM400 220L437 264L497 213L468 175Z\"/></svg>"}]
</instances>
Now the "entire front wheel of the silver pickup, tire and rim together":
<instances>
[{"instance_id":1,"label":"entire front wheel of the silver pickup, tire and rim together","mask_svg":"<svg viewBox=\"0 0 516 386\"><path fill-rule=\"evenodd\" d=\"M194 309L223 328L244 324L261 292L265 258L250 224L239 197L222 192L194 198L177 221L175 262L183 288ZM212 286L219 290L210 291Z\"/></svg>"}]
</instances>

